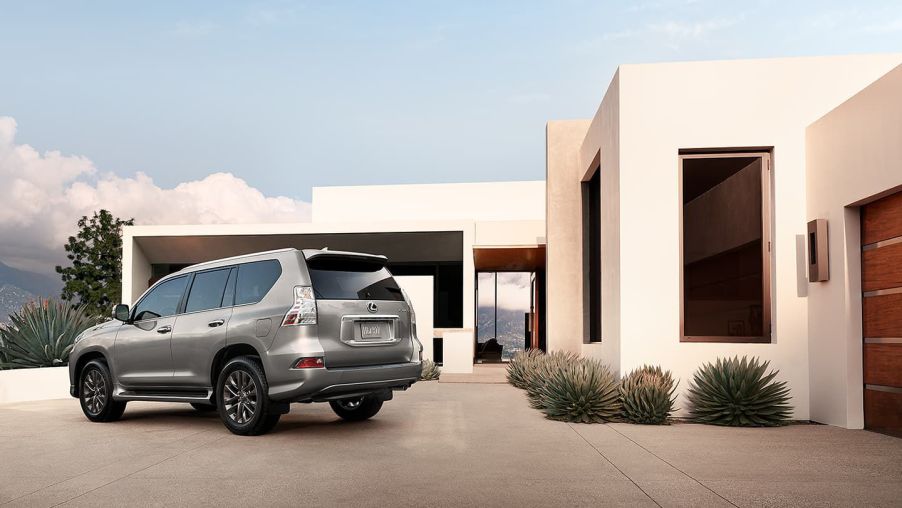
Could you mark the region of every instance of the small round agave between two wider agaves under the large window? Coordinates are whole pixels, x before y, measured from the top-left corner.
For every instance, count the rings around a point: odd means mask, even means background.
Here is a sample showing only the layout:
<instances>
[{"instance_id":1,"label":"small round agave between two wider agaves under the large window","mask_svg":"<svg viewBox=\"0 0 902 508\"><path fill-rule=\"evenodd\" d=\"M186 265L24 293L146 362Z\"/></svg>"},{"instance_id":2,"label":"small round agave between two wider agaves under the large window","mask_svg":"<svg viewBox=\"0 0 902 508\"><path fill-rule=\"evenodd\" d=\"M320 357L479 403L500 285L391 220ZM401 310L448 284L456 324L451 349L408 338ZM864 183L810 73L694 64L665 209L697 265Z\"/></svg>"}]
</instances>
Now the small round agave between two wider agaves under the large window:
<instances>
[{"instance_id":1,"label":"small round agave between two wider agaves under the large window","mask_svg":"<svg viewBox=\"0 0 902 508\"><path fill-rule=\"evenodd\" d=\"M644 365L632 371L620 383L623 417L632 423L661 425L674 411L676 385L670 371Z\"/></svg>"}]
</instances>

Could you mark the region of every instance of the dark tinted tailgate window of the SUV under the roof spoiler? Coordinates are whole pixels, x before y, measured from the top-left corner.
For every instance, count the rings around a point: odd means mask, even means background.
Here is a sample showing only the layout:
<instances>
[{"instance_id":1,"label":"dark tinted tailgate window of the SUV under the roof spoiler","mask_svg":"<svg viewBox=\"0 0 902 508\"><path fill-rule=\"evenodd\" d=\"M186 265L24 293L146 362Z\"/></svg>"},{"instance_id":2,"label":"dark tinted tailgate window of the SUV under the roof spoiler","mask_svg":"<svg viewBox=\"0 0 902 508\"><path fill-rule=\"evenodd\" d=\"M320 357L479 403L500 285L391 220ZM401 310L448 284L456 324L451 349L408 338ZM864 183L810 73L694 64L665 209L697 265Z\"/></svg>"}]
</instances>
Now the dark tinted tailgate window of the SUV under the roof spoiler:
<instances>
[{"instance_id":1,"label":"dark tinted tailgate window of the SUV under the roof spoiler","mask_svg":"<svg viewBox=\"0 0 902 508\"><path fill-rule=\"evenodd\" d=\"M396 300L404 295L384 266L345 259L308 261L314 295L323 300Z\"/></svg>"}]
</instances>

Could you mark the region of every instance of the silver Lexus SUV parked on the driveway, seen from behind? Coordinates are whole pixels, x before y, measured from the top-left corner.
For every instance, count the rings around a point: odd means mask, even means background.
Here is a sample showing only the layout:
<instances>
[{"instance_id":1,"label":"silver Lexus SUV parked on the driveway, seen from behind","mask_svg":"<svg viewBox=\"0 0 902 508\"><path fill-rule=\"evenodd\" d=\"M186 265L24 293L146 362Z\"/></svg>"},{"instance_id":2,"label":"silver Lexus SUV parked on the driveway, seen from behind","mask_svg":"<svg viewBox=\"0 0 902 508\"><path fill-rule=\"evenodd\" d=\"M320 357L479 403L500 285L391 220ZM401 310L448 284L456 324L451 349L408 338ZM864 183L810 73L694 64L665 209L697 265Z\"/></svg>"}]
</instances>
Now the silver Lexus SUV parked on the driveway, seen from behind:
<instances>
[{"instance_id":1,"label":"silver Lexus SUV parked on the driveway, seen from behind","mask_svg":"<svg viewBox=\"0 0 902 508\"><path fill-rule=\"evenodd\" d=\"M385 263L284 249L185 268L76 339L69 391L95 422L130 400L218 410L242 435L271 430L291 402L370 418L422 369L416 315Z\"/></svg>"}]
</instances>

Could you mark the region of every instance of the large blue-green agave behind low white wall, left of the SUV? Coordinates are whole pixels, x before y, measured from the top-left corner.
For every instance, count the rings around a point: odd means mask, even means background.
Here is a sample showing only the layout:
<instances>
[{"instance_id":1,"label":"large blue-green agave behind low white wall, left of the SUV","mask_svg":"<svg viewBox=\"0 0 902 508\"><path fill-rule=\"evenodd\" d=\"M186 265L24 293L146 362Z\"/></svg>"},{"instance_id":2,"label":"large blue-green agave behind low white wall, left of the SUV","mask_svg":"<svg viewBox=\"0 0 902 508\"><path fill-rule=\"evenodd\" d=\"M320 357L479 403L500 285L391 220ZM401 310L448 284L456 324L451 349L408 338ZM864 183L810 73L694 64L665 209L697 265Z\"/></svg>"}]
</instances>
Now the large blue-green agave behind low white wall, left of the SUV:
<instances>
[{"instance_id":1,"label":"large blue-green agave behind low white wall, left of the SUV","mask_svg":"<svg viewBox=\"0 0 902 508\"><path fill-rule=\"evenodd\" d=\"M26 304L0 327L3 368L65 365L75 337L96 323L83 307L40 300Z\"/></svg>"}]
</instances>

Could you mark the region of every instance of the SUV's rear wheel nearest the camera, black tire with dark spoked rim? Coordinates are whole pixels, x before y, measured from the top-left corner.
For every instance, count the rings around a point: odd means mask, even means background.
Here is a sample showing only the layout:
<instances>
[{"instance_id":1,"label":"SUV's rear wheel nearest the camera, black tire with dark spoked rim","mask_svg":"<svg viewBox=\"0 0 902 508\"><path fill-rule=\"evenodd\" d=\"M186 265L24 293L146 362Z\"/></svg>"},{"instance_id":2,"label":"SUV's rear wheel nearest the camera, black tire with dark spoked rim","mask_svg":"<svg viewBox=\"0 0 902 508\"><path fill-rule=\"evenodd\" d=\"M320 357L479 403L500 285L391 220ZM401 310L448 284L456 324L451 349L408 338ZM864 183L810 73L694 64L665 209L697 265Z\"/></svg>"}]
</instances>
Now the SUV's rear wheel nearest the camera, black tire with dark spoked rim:
<instances>
[{"instance_id":1,"label":"SUV's rear wheel nearest the camera, black tire with dark spoked rim","mask_svg":"<svg viewBox=\"0 0 902 508\"><path fill-rule=\"evenodd\" d=\"M239 436L269 432L282 415L270 410L268 393L260 360L253 356L230 360L216 381L216 406L222 423Z\"/></svg>"}]
</instances>

